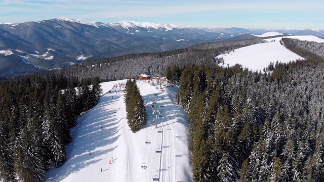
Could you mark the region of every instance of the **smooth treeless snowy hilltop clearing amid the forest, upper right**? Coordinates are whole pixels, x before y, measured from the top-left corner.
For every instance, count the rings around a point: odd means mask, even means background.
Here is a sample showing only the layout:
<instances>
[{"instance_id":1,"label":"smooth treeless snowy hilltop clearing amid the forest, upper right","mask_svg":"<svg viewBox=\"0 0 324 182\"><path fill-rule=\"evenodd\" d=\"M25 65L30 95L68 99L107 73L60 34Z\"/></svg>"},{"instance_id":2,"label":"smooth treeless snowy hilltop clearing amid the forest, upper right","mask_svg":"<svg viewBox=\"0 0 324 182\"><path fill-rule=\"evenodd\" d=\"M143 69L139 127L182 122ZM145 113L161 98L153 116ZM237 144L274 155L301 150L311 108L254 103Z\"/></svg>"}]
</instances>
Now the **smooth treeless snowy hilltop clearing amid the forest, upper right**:
<instances>
[{"instance_id":1,"label":"smooth treeless snowy hilltop clearing amid the forest, upper right","mask_svg":"<svg viewBox=\"0 0 324 182\"><path fill-rule=\"evenodd\" d=\"M296 38L300 40L324 42L324 39L316 36L285 36L287 38ZM258 43L250 45L244 48L239 48L228 54L222 54L216 58L223 58L224 64L220 66L234 66L240 64L244 68L249 68L253 71L262 71L267 67L270 62L288 63L290 61L296 61L304 58L291 52L284 45L279 43L282 37L265 39L266 43ZM271 42L272 41L272 42Z\"/></svg>"}]
</instances>

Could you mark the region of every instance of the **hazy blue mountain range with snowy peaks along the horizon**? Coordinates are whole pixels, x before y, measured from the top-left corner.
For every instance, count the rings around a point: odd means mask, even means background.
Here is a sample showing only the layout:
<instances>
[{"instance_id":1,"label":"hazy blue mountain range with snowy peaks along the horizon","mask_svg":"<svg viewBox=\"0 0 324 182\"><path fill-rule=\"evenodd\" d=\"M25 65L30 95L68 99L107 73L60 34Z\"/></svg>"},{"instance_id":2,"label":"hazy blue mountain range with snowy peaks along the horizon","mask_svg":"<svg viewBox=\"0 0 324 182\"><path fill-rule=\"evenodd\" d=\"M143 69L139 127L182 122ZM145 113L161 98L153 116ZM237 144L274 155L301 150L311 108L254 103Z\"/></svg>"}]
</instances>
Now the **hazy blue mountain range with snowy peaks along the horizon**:
<instances>
[{"instance_id":1,"label":"hazy blue mountain range with snowy peaks along the horizon","mask_svg":"<svg viewBox=\"0 0 324 182\"><path fill-rule=\"evenodd\" d=\"M164 52L196 43L247 39L269 30L192 28L119 21L86 22L67 17L0 24L0 76L59 69L86 60ZM324 35L324 30L283 29L282 35Z\"/></svg>"}]
</instances>

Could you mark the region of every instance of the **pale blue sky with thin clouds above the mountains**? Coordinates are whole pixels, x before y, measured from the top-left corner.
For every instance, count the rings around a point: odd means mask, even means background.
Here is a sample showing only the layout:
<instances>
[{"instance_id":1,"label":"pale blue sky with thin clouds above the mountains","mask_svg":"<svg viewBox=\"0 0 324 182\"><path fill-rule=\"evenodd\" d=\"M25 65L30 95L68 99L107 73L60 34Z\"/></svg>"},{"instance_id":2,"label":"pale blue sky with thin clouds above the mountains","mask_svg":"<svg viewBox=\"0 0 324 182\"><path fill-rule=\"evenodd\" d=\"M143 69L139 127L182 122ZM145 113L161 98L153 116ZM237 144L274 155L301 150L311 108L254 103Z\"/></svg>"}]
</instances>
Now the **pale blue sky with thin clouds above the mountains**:
<instances>
[{"instance_id":1,"label":"pale blue sky with thin clouds above the mountains","mask_svg":"<svg viewBox=\"0 0 324 182\"><path fill-rule=\"evenodd\" d=\"M69 17L103 23L131 20L188 27L323 30L323 7L322 0L0 0L0 23Z\"/></svg>"}]
</instances>

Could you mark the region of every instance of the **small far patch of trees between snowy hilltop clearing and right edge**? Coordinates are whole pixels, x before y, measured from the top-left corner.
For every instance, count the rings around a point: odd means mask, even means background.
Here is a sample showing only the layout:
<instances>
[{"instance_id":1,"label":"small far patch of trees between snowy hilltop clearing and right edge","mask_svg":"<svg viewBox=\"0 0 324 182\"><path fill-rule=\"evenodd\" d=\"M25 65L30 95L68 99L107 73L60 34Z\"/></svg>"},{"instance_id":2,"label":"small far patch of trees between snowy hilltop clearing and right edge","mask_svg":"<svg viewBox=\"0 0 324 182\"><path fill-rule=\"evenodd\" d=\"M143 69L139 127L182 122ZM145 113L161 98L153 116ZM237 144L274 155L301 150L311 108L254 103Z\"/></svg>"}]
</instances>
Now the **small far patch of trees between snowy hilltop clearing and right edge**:
<instances>
[{"instance_id":1,"label":"small far patch of trees between snowy hilltop clearing and right edge","mask_svg":"<svg viewBox=\"0 0 324 182\"><path fill-rule=\"evenodd\" d=\"M282 38L280 43L305 59L316 57L324 59L324 43L295 38Z\"/></svg>"}]
</instances>

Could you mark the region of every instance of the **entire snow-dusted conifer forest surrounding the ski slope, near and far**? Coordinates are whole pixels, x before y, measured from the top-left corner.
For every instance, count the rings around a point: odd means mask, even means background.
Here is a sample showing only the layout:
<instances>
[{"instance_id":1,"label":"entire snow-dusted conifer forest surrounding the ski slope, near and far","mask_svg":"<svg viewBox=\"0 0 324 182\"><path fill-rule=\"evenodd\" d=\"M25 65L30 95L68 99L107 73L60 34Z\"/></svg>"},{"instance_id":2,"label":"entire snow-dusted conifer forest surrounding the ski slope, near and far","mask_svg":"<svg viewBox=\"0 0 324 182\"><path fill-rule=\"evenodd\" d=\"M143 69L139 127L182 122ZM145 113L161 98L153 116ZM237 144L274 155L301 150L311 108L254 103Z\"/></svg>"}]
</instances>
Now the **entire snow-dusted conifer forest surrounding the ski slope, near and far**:
<instances>
[{"instance_id":1,"label":"entire snow-dusted conifer forest surrounding the ski slope, near and far","mask_svg":"<svg viewBox=\"0 0 324 182\"><path fill-rule=\"evenodd\" d=\"M47 74L0 81L0 176L42 181L66 160L70 129L94 107L100 82L142 73L179 84L175 102L189 117L194 181L324 181L323 43L281 39L307 58L256 72L220 67L215 57L255 43L209 42L163 53L102 58ZM136 82L126 84L133 132L147 111Z\"/></svg>"}]
</instances>

